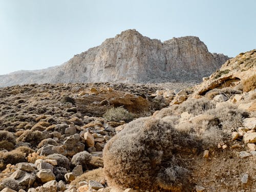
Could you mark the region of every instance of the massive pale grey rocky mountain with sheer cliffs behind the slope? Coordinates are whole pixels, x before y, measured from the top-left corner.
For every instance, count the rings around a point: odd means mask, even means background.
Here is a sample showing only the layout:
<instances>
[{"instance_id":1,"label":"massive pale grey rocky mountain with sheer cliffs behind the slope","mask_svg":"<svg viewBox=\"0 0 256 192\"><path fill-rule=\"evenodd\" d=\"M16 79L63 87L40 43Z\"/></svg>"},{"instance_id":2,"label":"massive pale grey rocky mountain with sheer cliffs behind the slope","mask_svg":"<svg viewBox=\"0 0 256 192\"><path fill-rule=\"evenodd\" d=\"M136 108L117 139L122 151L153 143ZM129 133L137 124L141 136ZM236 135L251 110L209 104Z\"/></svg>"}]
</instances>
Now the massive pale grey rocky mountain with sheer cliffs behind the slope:
<instances>
[{"instance_id":1,"label":"massive pale grey rocky mountain with sheer cliffs behind the slope","mask_svg":"<svg viewBox=\"0 0 256 192\"><path fill-rule=\"evenodd\" d=\"M61 66L0 76L0 87L57 82L200 81L229 58L211 54L198 37L164 42L126 30Z\"/></svg>"}]
</instances>

